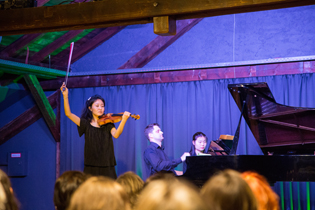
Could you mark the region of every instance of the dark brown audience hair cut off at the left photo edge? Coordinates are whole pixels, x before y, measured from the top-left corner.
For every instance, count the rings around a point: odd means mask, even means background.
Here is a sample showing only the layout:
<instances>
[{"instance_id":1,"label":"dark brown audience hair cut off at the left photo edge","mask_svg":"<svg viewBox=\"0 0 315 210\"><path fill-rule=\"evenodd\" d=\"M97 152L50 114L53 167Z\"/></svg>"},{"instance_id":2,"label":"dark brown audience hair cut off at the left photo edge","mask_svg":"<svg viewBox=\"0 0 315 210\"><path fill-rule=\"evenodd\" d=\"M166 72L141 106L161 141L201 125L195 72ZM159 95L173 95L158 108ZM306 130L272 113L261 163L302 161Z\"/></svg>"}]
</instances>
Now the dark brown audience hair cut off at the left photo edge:
<instances>
[{"instance_id":1,"label":"dark brown audience hair cut off at the left photo edge","mask_svg":"<svg viewBox=\"0 0 315 210\"><path fill-rule=\"evenodd\" d=\"M0 169L0 185L2 185L4 196L5 196L3 198L5 200L5 202L3 203L4 209L5 210L18 210L19 202L14 196L10 179L7 176L7 174L4 173L1 169ZM0 203L0 207L1 207L1 203Z\"/></svg>"}]
</instances>

